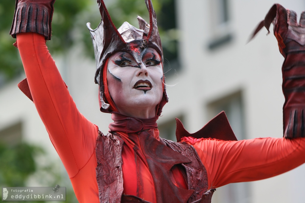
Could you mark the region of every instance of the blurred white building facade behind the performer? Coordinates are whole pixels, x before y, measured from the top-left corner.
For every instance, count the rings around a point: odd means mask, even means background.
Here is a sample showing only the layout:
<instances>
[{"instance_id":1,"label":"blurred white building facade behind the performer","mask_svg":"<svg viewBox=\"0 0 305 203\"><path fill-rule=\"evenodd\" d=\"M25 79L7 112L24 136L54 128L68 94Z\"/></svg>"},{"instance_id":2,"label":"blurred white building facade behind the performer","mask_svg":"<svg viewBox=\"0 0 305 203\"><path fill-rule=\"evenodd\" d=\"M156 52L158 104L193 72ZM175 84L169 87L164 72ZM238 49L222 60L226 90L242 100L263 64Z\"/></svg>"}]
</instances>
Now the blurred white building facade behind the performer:
<instances>
[{"instance_id":1,"label":"blurred white building facade behind the performer","mask_svg":"<svg viewBox=\"0 0 305 203\"><path fill-rule=\"evenodd\" d=\"M174 140L175 117L181 118L185 128L194 133L222 110L238 139L282 137L284 58L273 33L266 37L265 29L247 44L274 2L175 1L180 69L166 78L169 104L158 120L161 137ZM278 3L296 11L298 16L305 10L301 0ZM99 112L98 86L93 80L95 62L83 57L79 48L54 58L80 112L107 132L111 118ZM0 87L0 136L8 142L15 136L14 139L41 145L49 157L59 161L34 104L16 86L22 79ZM162 136L164 132L167 134ZM302 165L267 180L221 187L212 202L304 202L304 171Z\"/></svg>"}]
</instances>

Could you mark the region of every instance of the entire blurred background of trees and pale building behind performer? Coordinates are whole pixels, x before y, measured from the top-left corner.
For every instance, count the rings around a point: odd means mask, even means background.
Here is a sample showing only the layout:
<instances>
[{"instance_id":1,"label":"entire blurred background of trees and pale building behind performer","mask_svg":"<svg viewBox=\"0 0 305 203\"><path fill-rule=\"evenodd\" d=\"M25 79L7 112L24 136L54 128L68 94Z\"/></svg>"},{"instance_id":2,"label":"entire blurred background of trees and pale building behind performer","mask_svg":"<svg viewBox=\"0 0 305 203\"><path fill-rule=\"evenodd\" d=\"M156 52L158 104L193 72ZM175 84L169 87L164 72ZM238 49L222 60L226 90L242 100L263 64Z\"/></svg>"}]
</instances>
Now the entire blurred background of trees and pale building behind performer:
<instances>
[{"instance_id":1,"label":"entire blurred background of trees and pale building behind performer","mask_svg":"<svg viewBox=\"0 0 305 203\"><path fill-rule=\"evenodd\" d=\"M164 51L169 104L158 120L160 136L175 140L175 118L194 133L224 110L236 137L282 137L283 57L273 34L263 29L271 0L152 0ZM300 16L303 0L278 0ZM105 0L117 27L149 21L144 0ZM57 0L52 40L47 42L82 114L106 133L110 115L99 112L95 60L86 27L97 27L94 0ZM34 104L18 89L25 77L15 40L9 36L15 2L0 2L0 186L67 187L69 177L49 141ZM272 29L272 26L271 26ZM220 126L221 127L221 126ZM253 151L255 155L255 151ZM305 166L267 180L218 188L213 203L304 202ZM2 195L2 194L1 194Z\"/></svg>"}]
</instances>

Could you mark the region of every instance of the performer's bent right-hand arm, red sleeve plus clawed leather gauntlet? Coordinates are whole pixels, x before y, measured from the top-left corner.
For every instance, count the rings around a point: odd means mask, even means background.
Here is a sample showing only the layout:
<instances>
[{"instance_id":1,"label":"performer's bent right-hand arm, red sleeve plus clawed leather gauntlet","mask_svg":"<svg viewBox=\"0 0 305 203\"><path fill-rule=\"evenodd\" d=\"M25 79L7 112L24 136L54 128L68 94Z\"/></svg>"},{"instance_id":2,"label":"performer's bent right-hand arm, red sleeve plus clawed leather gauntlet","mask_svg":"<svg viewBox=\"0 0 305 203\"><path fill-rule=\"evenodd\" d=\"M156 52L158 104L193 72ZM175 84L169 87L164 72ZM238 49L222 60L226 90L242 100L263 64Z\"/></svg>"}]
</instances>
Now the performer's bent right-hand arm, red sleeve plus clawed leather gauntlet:
<instances>
[{"instance_id":1,"label":"performer's bent right-hand arm, red sleeve plus clawed leather gauntlet","mask_svg":"<svg viewBox=\"0 0 305 203\"><path fill-rule=\"evenodd\" d=\"M271 23L285 58L282 66L284 138L219 141L185 137L206 166L212 188L272 177L305 162L305 12L297 23L294 11L274 4L254 35L264 26L269 31Z\"/></svg>"}]
</instances>

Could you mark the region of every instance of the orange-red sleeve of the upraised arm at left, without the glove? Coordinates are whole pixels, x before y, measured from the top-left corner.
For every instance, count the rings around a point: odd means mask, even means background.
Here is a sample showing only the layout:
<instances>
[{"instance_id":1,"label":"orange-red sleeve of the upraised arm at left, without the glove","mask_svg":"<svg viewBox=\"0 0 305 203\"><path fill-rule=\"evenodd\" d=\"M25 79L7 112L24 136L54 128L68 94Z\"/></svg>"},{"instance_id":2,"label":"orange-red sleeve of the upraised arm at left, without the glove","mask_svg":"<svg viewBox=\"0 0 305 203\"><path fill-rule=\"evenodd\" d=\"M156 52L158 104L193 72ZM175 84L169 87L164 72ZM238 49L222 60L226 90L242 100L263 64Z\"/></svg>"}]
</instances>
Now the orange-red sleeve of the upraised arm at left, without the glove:
<instances>
[{"instance_id":1,"label":"orange-red sleeve of the upraised arm at left, without the glove","mask_svg":"<svg viewBox=\"0 0 305 203\"><path fill-rule=\"evenodd\" d=\"M39 116L70 178L74 177L94 153L97 127L78 112L45 37L20 33L17 45Z\"/></svg>"}]
</instances>

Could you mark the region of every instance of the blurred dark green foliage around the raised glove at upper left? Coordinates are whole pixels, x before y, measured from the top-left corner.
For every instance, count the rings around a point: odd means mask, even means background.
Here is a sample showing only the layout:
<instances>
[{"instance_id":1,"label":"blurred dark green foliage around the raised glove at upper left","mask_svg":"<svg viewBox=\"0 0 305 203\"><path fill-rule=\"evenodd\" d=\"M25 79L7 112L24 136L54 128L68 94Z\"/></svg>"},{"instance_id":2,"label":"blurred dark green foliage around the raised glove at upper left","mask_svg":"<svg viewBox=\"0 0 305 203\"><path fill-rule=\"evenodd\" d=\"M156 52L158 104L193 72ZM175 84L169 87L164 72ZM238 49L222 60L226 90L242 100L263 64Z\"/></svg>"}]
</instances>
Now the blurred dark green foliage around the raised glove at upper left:
<instances>
[{"instance_id":1,"label":"blurred dark green foliage around the raised glove at upper left","mask_svg":"<svg viewBox=\"0 0 305 203\"><path fill-rule=\"evenodd\" d=\"M52 22L52 40L48 43L50 52L64 52L73 45L75 19L86 12L95 1L88 0L58 0L54 4ZM0 1L0 74L5 79L11 79L22 72L22 63L18 50L12 46L16 41L9 36L15 9L14 0ZM85 28L85 25L83 25Z\"/></svg>"}]
</instances>

